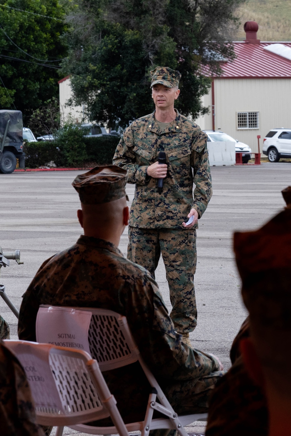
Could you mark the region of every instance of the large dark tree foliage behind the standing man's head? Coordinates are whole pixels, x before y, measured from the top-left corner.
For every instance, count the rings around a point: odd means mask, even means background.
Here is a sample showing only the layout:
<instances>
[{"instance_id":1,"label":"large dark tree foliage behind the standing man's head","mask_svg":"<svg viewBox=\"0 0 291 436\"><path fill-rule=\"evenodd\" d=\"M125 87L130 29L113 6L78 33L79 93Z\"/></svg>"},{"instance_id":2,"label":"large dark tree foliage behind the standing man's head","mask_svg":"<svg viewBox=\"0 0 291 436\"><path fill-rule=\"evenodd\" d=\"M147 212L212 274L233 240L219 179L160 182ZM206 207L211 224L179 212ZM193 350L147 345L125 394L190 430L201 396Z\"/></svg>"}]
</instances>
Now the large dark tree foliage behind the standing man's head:
<instances>
[{"instance_id":1,"label":"large dark tree foliage behind the standing man's head","mask_svg":"<svg viewBox=\"0 0 291 436\"><path fill-rule=\"evenodd\" d=\"M126 126L152 112L150 70L169 66L182 74L177 108L194 118L207 111L200 97L210 79L203 65L219 72L233 58L227 44L235 10L245 0L79 0L68 22L74 103L87 105L91 120Z\"/></svg>"}]
</instances>

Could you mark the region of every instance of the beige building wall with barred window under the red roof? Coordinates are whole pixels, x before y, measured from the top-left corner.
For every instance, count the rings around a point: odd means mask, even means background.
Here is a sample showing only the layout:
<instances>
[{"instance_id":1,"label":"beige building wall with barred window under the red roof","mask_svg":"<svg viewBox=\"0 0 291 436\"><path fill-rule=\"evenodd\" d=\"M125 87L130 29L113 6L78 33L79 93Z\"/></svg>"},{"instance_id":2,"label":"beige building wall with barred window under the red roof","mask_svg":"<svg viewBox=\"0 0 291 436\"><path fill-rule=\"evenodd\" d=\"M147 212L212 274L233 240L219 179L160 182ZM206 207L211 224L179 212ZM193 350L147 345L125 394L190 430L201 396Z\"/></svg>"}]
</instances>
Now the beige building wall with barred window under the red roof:
<instances>
[{"instance_id":1,"label":"beige building wall with barred window under the red roof","mask_svg":"<svg viewBox=\"0 0 291 436\"><path fill-rule=\"evenodd\" d=\"M264 136L275 127L291 128L291 78L216 79L215 129L221 129L234 139L260 151ZM259 112L258 129L237 129L237 112ZM212 129L207 122L208 129Z\"/></svg>"}]
</instances>

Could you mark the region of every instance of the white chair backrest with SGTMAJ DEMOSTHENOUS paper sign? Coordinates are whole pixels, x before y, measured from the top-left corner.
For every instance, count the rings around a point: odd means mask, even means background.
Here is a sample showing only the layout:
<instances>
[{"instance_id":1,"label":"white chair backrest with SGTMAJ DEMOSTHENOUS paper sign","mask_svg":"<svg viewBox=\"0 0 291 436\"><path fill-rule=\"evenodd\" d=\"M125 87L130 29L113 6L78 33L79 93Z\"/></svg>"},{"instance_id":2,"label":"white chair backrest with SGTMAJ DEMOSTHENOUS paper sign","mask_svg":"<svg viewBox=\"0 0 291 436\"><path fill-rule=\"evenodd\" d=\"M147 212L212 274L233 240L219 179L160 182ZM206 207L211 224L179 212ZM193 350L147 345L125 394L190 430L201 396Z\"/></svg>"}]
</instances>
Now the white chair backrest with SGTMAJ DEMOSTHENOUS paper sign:
<instances>
[{"instance_id":1,"label":"white chair backrest with SGTMAJ DEMOSTHENOUS paper sign","mask_svg":"<svg viewBox=\"0 0 291 436\"><path fill-rule=\"evenodd\" d=\"M89 326L87 318L82 321L84 313L90 314ZM39 342L53 344L60 344L60 337L69 337L67 346L89 351L101 371L139 360L139 351L126 317L112 310L41 305L36 320L36 337Z\"/></svg>"}]
</instances>

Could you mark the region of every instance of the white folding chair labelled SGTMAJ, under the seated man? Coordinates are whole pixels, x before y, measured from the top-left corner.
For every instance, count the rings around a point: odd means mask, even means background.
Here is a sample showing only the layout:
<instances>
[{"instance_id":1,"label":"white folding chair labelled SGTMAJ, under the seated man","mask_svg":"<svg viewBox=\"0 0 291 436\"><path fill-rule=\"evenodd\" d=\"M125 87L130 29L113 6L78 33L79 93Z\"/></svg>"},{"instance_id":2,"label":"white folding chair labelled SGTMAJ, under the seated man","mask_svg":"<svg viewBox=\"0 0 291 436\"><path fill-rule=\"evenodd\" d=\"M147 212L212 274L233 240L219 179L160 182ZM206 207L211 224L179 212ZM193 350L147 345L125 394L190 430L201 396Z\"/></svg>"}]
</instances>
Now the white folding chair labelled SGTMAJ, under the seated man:
<instances>
[{"instance_id":1,"label":"white folding chair labelled SGTMAJ, under the seated man","mask_svg":"<svg viewBox=\"0 0 291 436\"><path fill-rule=\"evenodd\" d=\"M91 313L89 322L88 320L85 322L85 319L78 322L78 313L82 314L82 311L86 314ZM36 321L37 340L56 341L60 331L58 326L63 325L65 319L67 327L62 328L62 330L67 329L71 334L74 333L74 337L78 338L75 341L79 341L78 346L89 349L92 357L98 362L101 371L109 371L139 361L152 387L152 392L148 399L144 421L125 424L128 431L140 430L142 436L147 436L150 430L175 429L181 436L187 436L183 426L194 421L207 420L207 413L178 417L154 375L141 357L126 317L106 309L42 305L38 311ZM82 324L84 324L84 331L80 332ZM85 327L85 324L87 324L87 327ZM48 326L50 332L48 332ZM154 410L164 415L164 418L153 419ZM86 424L70 427L89 434L106 435L117 433L114 427L92 427Z\"/></svg>"}]
</instances>

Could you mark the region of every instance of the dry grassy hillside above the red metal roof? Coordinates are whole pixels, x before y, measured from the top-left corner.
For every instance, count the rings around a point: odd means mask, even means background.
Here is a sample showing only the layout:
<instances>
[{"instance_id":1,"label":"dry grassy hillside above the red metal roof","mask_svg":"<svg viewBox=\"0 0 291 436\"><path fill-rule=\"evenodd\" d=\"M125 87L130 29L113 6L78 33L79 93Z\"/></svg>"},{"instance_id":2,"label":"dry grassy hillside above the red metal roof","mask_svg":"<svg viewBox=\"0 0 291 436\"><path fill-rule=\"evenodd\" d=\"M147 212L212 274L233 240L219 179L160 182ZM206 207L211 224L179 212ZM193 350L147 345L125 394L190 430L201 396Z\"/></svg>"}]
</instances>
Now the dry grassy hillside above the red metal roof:
<instances>
[{"instance_id":1,"label":"dry grassy hillside above the red metal roof","mask_svg":"<svg viewBox=\"0 0 291 436\"><path fill-rule=\"evenodd\" d=\"M236 15L241 24L234 41L246 38L246 21L257 21L257 37L261 41L291 41L291 0L247 0Z\"/></svg>"}]
</instances>

